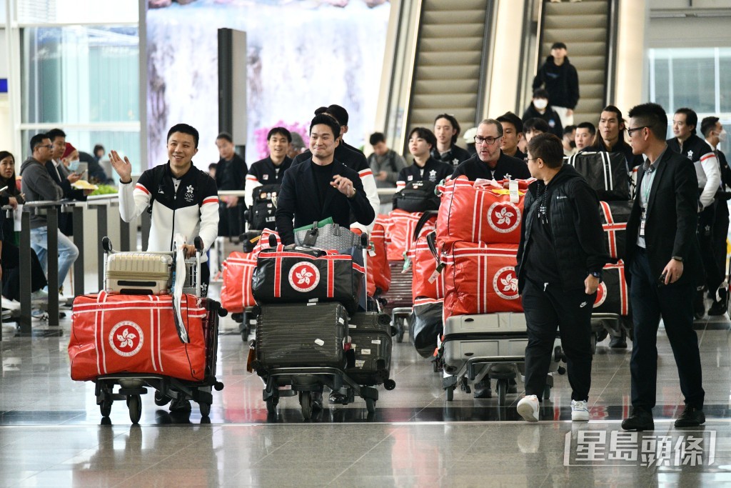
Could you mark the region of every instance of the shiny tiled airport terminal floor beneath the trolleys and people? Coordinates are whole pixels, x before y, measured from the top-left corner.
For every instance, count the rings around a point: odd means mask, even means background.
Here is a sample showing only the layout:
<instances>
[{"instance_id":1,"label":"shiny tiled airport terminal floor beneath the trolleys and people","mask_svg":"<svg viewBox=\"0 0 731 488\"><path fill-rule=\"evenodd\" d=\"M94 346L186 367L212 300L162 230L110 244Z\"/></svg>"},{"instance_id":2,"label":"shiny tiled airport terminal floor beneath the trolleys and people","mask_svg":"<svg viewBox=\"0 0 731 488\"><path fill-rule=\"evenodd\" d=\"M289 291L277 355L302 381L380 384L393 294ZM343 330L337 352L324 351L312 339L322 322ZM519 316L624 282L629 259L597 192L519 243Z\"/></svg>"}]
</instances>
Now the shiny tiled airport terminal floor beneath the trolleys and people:
<instances>
[{"instance_id":1,"label":"shiny tiled airport terminal floor beneath the trolleys and people","mask_svg":"<svg viewBox=\"0 0 731 488\"><path fill-rule=\"evenodd\" d=\"M212 286L212 296L215 295ZM69 314L70 315L70 314ZM683 399L670 345L659 334L655 430L624 434L629 413L626 350L599 344L594 356L591 420L572 423L567 377L558 376L537 424L515 411L519 394L447 402L441 376L408 338L394 343L393 391L379 388L376 411L363 399L330 405L303 421L296 397L276 415L262 381L246 372L248 347L238 324L221 320L218 377L208 418L196 404L170 413L143 395L132 425L124 402L102 421L94 383L69 376L69 317L61 335L34 323L36 337L0 342L0 486L2 487L590 487L719 486L731 483L731 323L696 323L708 421L676 429Z\"/></svg>"}]
</instances>

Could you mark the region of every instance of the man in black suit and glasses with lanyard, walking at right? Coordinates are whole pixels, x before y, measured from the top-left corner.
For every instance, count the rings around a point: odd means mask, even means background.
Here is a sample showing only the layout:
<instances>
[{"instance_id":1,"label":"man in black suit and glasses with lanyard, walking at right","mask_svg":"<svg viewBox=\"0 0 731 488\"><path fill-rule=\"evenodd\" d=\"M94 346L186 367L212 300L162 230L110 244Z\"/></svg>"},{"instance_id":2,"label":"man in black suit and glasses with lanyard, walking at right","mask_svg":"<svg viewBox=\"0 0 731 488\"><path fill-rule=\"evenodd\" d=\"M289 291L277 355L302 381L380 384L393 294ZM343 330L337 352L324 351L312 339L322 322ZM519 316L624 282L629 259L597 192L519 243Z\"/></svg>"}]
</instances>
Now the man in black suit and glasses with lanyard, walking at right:
<instances>
[{"instance_id":1,"label":"man in black suit and glasses with lanyard, walking at right","mask_svg":"<svg viewBox=\"0 0 731 488\"><path fill-rule=\"evenodd\" d=\"M693 330L694 269L700 266L695 237L698 180L688 159L665 142L667 115L655 103L629 110L632 153L647 161L637 174L637 195L627 222L624 273L635 323L629 370L632 415L625 430L653 430L660 318L678 367L685 410L675 427L705 422L698 337Z\"/></svg>"}]
</instances>

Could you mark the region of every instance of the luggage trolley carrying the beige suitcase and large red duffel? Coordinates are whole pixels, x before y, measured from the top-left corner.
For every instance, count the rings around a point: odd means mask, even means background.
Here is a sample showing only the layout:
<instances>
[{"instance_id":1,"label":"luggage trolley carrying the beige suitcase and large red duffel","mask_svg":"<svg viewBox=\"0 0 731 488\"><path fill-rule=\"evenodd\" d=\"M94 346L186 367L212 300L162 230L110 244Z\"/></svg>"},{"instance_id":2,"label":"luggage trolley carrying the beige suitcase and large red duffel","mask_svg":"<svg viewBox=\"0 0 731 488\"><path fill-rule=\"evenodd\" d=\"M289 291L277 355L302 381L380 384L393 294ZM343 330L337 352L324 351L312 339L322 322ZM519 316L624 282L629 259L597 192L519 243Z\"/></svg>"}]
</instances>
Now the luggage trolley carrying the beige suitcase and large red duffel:
<instances>
[{"instance_id":1,"label":"luggage trolley carrying the beige suitcase and large red duffel","mask_svg":"<svg viewBox=\"0 0 731 488\"><path fill-rule=\"evenodd\" d=\"M186 259L186 279L183 283L183 293L200 296L200 255L203 249L203 241L200 236L194 239L197 249L195 258ZM110 255L116 252L112 248L112 242L108 237L102 239L102 247L105 251L104 260L104 288L107 289L107 260ZM175 252L148 252L145 254L172 255L173 266L170 282L174 283L175 273ZM226 309L221 307L217 301L202 299L205 303L206 318L204 319L205 336L205 375L202 381L180 380L166 375L148 373L124 372L110 375L100 375L95 380L96 404L102 412L102 417L108 417L115 400L125 400L129 408L129 419L132 424L137 424L142 416L141 395L147 393L149 386L155 389L155 404L158 406L167 405L173 399L192 399L198 403L201 416L207 417L211 413L213 395L211 388L221 391L224 385L216 380L216 353L218 350L219 317L227 315ZM114 387L119 385L115 392Z\"/></svg>"}]
</instances>

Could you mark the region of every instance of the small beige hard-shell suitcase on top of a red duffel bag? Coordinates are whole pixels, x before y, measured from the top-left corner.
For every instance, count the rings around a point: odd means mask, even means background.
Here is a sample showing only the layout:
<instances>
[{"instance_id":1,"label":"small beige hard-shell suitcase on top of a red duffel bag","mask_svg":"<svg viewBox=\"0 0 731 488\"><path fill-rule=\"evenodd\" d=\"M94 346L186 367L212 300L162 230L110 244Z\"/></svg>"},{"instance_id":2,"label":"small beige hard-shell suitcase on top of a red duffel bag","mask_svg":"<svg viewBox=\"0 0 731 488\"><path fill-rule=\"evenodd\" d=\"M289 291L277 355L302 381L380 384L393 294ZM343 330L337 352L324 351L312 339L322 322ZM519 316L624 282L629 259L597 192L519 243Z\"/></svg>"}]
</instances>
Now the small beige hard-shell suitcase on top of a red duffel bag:
<instances>
[{"instance_id":1,"label":"small beige hard-shell suitcase on top of a red duffel bag","mask_svg":"<svg viewBox=\"0 0 731 488\"><path fill-rule=\"evenodd\" d=\"M163 295L173 283L173 256L146 252L107 255L107 293Z\"/></svg>"}]
</instances>

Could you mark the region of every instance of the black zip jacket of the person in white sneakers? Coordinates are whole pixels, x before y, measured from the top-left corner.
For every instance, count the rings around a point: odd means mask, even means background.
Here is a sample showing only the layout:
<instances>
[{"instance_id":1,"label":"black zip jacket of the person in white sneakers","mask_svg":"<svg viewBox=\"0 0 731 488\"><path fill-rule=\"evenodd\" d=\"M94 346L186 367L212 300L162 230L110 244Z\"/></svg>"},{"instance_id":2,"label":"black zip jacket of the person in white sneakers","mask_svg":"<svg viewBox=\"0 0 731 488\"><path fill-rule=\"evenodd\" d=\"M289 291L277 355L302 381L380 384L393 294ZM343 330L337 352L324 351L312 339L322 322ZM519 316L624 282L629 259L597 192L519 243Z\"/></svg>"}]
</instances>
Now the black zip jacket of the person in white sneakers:
<instances>
[{"instance_id":1,"label":"black zip jacket of the person in white sneakers","mask_svg":"<svg viewBox=\"0 0 731 488\"><path fill-rule=\"evenodd\" d=\"M518 290L526 284L528 252L547 252L547 249L531 249L531 227L535 214L544 198L548 207L550 236L553 239L558 275L564 290L584 288L589 273L602 271L610 260L604 242L604 230L599 217L599 198L586 180L572 166L563 165L548 186L542 180L528 187L523 224L520 227L518 246Z\"/></svg>"}]
</instances>

